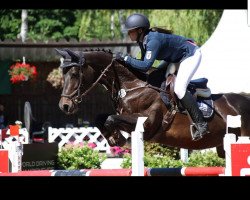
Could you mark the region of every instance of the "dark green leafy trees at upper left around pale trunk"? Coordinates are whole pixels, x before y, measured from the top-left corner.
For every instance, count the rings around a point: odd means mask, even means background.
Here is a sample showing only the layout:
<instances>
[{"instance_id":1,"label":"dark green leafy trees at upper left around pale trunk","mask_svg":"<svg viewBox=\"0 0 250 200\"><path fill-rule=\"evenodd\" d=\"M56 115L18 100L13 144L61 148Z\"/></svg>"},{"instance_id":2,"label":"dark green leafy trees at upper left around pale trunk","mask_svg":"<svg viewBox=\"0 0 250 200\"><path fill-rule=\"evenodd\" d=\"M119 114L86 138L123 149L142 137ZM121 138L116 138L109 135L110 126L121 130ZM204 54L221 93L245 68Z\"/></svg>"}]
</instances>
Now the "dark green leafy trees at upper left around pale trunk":
<instances>
[{"instance_id":1,"label":"dark green leafy trees at upper left around pale trunk","mask_svg":"<svg viewBox=\"0 0 250 200\"><path fill-rule=\"evenodd\" d=\"M28 38L48 41L62 38L78 39L80 10L28 10ZM0 38L17 38L21 28L20 10L0 10Z\"/></svg>"}]
</instances>

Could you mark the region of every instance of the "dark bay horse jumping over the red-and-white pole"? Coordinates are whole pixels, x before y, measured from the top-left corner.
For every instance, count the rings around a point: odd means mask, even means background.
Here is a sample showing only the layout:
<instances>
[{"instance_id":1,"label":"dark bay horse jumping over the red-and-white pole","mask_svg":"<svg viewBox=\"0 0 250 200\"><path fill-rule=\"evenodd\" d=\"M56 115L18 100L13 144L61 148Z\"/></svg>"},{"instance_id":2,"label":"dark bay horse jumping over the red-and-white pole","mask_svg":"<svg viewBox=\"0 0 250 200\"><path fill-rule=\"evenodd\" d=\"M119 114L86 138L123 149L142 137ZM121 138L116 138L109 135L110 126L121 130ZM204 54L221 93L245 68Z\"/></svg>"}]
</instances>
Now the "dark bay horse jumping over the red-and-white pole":
<instances>
[{"instance_id":1,"label":"dark bay horse jumping over the red-and-white pole","mask_svg":"<svg viewBox=\"0 0 250 200\"><path fill-rule=\"evenodd\" d=\"M111 146L123 146L126 138L123 131L131 133L139 116L148 117L144 123L144 140L186 149L216 147L218 155L224 157L223 137L226 133L227 115L241 115L242 126L238 136L250 135L250 99L241 94L212 94L213 116L208 118L210 134L193 141L190 134L190 120L185 113L177 112L166 129L164 116L168 109L163 103L159 83L149 86L151 76L158 76L154 70L149 76L127 68L113 59L110 51L57 52L64 58L64 85L60 109L66 114L77 111L78 104L96 84L102 84L110 93L117 115L110 115L101 132ZM154 78L155 80L155 78ZM223 84L223 83L222 83Z\"/></svg>"}]
</instances>

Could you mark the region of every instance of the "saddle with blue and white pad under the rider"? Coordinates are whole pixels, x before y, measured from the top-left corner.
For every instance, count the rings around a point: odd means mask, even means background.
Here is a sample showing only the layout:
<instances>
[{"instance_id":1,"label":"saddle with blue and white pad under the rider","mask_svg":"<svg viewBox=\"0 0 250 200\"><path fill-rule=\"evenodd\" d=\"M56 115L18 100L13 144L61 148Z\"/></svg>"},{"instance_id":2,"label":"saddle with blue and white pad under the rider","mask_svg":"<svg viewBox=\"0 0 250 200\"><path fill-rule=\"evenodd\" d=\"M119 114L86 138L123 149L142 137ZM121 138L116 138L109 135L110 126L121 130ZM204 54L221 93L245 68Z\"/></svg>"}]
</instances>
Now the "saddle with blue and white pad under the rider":
<instances>
[{"instance_id":1,"label":"saddle with blue and white pad under the rider","mask_svg":"<svg viewBox=\"0 0 250 200\"><path fill-rule=\"evenodd\" d=\"M165 91L171 104L171 108L165 114L162 122L165 130L170 128L170 124L174 120L175 114L177 112L187 114L185 108L181 105L180 100L174 93L175 78L175 74L169 74L165 85ZM209 119L214 113L214 105L211 96L211 90L207 87L207 82L208 79L206 78L192 80L190 81L187 90L193 95L194 99L196 100L198 107L203 114L203 117ZM166 99L162 98L162 100L165 104L168 104L166 102Z\"/></svg>"}]
</instances>

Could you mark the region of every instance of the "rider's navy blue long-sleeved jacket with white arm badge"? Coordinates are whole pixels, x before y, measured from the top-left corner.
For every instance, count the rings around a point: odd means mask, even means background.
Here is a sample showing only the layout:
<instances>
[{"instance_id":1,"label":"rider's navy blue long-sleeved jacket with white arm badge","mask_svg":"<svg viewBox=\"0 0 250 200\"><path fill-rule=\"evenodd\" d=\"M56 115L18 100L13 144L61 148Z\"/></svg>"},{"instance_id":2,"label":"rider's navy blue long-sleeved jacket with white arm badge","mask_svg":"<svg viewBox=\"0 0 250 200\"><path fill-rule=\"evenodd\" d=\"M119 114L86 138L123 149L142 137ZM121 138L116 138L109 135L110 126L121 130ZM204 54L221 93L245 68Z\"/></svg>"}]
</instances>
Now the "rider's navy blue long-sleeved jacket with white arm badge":
<instances>
[{"instance_id":1,"label":"rider's navy blue long-sleeved jacket with white arm badge","mask_svg":"<svg viewBox=\"0 0 250 200\"><path fill-rule=\"evenodd\" d=\"M190 38L150 31L140 45L144 57L138 60L128 56L125 62L133 68L148 71L155 60L178 63L192 56L197 48Z\"/></svg>"}]
</instances>

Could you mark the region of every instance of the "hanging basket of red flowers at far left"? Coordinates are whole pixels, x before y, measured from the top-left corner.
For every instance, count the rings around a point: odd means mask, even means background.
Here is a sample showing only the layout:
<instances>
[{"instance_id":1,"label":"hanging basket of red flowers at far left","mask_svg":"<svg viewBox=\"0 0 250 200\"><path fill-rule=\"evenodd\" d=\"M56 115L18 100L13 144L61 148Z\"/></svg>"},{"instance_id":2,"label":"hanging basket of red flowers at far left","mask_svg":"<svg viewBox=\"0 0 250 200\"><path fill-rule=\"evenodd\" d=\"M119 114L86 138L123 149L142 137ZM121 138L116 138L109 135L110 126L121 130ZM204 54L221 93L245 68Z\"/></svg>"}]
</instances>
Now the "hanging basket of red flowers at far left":
<instances>
[{"instance_id":1,"label":"hanging basket of red flowers at far left","mask_svg":"<svg viewBox=\"0 0 250 200\"><path fill-rule=\"evenodd\" d=\"M27 81L29 78L35 78L37 76L37 70L35 66L17 62L10 66L9 74L11 76L10 81L14 84Z\"/></svg>"}]
</instances>

